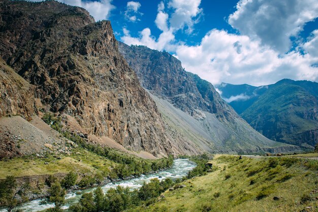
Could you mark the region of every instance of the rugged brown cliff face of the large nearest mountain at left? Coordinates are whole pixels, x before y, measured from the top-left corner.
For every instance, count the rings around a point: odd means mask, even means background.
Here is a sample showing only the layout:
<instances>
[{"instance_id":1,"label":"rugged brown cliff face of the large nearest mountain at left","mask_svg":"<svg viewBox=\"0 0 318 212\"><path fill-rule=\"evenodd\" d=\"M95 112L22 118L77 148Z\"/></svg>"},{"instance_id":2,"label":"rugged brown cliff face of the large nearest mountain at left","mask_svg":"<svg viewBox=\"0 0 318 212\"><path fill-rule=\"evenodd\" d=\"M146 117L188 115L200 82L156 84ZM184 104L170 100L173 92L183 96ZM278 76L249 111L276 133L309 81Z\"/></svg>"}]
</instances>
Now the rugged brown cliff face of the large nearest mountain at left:
<instances>
[{"instance_id":1,"label":"rugged brown cliff face of the large nearest mountain at left","mask_svg":"<svg viewBox=\"0 0 318 212\"><path fill-rule=\"evenodd\" d=\"M109 21L53 1L2 1L0 14L0 55L33 85L45 110L71 115L88 133L128 149L179 153L119 54Z\"/></svg>"}]
</instances>

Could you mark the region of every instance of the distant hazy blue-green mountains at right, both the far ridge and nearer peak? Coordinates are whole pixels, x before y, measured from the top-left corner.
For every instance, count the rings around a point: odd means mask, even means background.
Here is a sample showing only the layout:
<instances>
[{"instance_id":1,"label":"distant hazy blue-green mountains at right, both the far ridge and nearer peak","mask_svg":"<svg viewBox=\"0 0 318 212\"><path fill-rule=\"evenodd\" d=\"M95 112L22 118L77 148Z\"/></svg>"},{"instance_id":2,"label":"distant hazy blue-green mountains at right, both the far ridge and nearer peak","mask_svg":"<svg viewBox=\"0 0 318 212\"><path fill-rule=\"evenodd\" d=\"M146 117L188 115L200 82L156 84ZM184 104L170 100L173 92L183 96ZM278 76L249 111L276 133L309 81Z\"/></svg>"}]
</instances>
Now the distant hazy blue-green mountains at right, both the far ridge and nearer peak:
<instances>
[{"instance_id":1,"label":"distant hazy blue-green mountains at right, both the far ridge and nearer peak","mask_svg":"<svg viewBox=\"0 0 318 212\"><path fill-rule=\"evenodd\" d=\"M221 84L225 99L253 128L279 142L313 148L318 142L318 83L284 79L261 87Z\"/></svg>"}]
</instances>

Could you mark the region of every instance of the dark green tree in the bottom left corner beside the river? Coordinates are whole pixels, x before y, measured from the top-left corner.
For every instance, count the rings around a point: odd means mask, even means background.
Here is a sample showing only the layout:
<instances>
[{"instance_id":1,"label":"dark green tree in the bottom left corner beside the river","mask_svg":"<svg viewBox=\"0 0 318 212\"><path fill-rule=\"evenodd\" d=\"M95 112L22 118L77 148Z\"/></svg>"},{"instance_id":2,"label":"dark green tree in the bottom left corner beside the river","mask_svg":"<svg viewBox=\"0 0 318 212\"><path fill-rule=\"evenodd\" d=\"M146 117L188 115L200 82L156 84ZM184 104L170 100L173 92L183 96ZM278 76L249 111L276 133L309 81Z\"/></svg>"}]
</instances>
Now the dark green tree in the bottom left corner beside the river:
<instances>
[{"instance_id":1,"label":"dark green tree in the bottom left corner beside the river","mask_svg":"<svg viewBox=\"0 0 318 212\"><path fill-rule=\"evenodd\" d=\"M14 176L7 176L6 180L0 182L0 202L3 202L3 205L7 206L7 210L10 212L16 206L27 201L25 192L28 188L28 183L18 186Z\"/></svg>"}]
</instances>

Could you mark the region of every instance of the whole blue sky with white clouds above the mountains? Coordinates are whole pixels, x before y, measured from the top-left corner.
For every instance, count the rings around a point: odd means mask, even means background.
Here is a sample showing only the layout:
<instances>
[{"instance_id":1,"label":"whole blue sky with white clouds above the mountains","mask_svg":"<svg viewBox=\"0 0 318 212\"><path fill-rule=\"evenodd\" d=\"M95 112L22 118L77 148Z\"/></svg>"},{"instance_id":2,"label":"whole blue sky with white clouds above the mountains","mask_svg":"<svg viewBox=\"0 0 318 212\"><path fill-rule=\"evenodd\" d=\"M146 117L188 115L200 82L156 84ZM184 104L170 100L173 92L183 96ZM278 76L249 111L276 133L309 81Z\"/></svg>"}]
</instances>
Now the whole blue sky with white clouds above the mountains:
<instances>
[{"instance_id":1,"label":"whole blue sky with white clouds above the mountains","mask_svg":"<svg viewBox=\"0 0 318 212\"><path fill-rule=\"evenodd\" d=\"M317 0L58 1L110 20L118 41L168 51L214 85L318 81Z\"/></svg>"}]
</instances>

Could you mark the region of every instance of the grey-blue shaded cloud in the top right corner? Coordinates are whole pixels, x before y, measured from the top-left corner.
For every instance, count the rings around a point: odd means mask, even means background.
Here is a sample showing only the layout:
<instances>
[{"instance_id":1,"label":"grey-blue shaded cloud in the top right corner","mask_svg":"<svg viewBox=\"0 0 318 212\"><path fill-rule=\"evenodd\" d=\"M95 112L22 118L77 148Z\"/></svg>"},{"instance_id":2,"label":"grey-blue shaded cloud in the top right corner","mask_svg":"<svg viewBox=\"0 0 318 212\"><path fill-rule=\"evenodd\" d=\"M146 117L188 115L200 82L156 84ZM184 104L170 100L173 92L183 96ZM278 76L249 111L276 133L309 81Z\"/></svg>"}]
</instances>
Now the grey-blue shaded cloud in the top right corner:
<instances>
[{"instance_id":1,"label":"grey-blue shaded cloud in the top right corner","mask_svg":"<svg viewBox=\"0 0 318 212\"><path fill-rule=\"evenodd\" d=\"M288 52L290 38L318 17L316 0L240 0L236 9L229 16L232 27L279 53Z\"/></svg>"}]
</instances>

